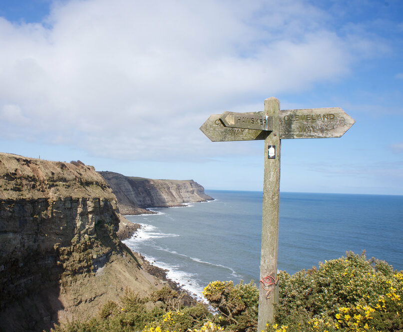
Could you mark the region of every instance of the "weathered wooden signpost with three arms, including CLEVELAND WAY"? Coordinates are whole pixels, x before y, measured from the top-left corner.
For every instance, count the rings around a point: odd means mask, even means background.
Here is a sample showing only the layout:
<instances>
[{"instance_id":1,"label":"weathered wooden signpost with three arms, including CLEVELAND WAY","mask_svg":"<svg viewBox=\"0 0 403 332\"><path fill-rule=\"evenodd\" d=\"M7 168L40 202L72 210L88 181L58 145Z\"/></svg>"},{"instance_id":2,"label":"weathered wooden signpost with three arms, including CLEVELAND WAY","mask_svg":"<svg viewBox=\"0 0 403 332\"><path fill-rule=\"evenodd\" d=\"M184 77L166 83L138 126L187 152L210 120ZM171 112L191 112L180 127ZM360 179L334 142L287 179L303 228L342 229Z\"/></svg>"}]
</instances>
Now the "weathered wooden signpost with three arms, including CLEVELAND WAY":
<instances>
[{"instance_id":1,"label":"weathered wooden signpost with three arms, including CLEVELAND WAY","mask_svg":"<svg viewBox=\"0 0 403 332\"><path fill-rule=\"evenodd\" d=\"M264 139L258 332L273 321L273 304L278 302L281 139L340 137L354 122L340 107L280 110L279 100L271 97L264 100L263 112L213 114L200 127L212 141Z\"/></svg>"}]
</instances>

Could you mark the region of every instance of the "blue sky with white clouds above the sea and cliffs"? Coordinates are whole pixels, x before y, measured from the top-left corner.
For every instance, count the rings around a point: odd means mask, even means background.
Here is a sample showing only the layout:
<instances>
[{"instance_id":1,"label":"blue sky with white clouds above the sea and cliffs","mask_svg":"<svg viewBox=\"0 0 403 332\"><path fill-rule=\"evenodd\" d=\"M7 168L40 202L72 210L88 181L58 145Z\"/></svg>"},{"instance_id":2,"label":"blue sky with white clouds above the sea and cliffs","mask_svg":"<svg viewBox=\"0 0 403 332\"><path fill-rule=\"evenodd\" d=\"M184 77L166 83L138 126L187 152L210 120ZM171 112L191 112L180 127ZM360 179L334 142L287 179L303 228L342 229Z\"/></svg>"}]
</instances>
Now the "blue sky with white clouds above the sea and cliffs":
<instances>
[{"instance_id":1,"label":"blue sky with white clouds above the sea and cliffs","mask_svg":"<svg viewBox=\"0 0 403 332\"><path fill-rule=\"evenodd\" d=\"M403 3L0 0L0 151L261 190L263 141L210 114L342 107L341 138L283 139L282 191L403 194Z\"/></svg>"}]
</instances>

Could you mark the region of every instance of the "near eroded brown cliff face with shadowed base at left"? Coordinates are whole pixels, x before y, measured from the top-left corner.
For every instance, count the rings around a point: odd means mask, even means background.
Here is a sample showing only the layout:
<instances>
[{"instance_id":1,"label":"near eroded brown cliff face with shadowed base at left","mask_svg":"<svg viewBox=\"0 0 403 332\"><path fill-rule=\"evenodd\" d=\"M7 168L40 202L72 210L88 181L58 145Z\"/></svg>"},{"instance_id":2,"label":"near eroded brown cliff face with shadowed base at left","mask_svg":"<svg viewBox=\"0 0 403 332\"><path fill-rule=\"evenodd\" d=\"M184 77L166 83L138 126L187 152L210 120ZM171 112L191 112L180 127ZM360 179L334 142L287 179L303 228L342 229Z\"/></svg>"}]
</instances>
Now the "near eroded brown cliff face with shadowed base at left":
<instances>
[{"instance_id":1,"label":"near eroded brown cliff face with shadowed base at left","mask_svg":"<svg viewBox=\"0 0 403 332\"><path fill-rule=\"evenodd\" d=\"M0 153L0 330L96 314L162 283L116 236L112 189L92 166Z\"/></svg>"}]
</instances>

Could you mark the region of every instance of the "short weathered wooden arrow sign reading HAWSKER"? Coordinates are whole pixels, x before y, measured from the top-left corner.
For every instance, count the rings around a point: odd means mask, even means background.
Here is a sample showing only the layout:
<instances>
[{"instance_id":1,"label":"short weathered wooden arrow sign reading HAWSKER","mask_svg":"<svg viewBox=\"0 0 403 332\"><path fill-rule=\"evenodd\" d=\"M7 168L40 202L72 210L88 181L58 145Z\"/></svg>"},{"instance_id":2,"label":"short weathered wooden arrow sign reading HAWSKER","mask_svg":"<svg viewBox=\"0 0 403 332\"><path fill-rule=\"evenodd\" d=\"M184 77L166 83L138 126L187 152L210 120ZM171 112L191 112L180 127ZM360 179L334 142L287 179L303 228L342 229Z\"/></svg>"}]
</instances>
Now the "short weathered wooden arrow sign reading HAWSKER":
<instances>
[{"instance_id":1,"label":"short weathered wooden arrow sign reading HAWSKER","mask_svg":"<svg viewBox=\"0 0 403 332\"><path fill-rule=\"evenodd\" d=\"M256 130L273 129L273 119L267 115L264 115L264 112L224 112L221 114L220 118L226 127Z\"/></svg>"}]
</instances>

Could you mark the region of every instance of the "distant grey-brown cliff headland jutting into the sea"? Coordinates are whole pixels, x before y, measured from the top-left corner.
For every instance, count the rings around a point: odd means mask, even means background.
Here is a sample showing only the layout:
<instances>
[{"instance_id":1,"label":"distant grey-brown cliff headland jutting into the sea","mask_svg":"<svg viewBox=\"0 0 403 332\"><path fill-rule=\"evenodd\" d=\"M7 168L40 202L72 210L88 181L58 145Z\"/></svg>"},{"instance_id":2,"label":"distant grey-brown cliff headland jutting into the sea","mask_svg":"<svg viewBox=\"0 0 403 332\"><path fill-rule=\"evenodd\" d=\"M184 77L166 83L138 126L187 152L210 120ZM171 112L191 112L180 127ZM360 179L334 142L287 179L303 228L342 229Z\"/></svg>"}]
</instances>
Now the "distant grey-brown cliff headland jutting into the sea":
<instances>
[{"instance_id":1,"label":"distant grey-brown cliff headland jutting into the sea","mask_svg":"<svg viewBox=\"0 0 403 332\"><path fill-rule=\"evenodd\" d=\"M147 207L182 206L213 199L193 180L155 180L110 171L99 173L115 193L122 214L147 213Z\"/></svg>"}]
</instances>

